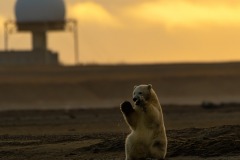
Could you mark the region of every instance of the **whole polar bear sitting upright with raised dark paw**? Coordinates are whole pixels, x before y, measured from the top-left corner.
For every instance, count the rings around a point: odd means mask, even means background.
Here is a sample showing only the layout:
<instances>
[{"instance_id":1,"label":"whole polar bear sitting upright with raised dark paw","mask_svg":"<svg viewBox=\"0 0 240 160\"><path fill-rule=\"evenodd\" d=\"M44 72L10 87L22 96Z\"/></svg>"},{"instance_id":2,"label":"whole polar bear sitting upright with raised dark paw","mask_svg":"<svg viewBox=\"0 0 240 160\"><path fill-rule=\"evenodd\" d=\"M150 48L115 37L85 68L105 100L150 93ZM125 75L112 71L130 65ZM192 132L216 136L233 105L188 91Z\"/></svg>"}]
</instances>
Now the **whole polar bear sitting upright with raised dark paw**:
<instances>
[{"instance_id":1,"label":"whole polar bear sitting upright with raised dark paw","mask_svg":"<svg viewBox=\"0 0 240 160\"><path fill-rule=\"evenodd\" d=\"M152 85L135 86L134 106L125 101L121 111L131 129L125 142L126 160L165 159L167 136L162 108Z\"/></svg>"}]
</instances>

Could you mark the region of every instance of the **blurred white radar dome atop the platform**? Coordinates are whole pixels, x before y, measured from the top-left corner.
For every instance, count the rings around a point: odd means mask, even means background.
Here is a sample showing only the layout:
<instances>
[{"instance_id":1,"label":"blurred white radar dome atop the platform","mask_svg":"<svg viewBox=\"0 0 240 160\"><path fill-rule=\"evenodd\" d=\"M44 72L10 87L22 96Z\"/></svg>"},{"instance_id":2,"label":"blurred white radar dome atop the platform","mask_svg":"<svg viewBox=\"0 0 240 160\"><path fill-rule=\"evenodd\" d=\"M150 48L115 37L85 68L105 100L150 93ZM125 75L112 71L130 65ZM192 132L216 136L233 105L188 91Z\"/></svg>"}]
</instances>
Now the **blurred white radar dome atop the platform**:
<instances>
[{"instance_id":1,"label":"blurred white radar dome atop the platform","mask_svg":"<svg viewBox=\"0 0 240 160\"><path fill-rule=\"evenodd\" d=\"M64 21L63 0L17 0L15 5L17 22Z\"/></svg>"}]
</instances>

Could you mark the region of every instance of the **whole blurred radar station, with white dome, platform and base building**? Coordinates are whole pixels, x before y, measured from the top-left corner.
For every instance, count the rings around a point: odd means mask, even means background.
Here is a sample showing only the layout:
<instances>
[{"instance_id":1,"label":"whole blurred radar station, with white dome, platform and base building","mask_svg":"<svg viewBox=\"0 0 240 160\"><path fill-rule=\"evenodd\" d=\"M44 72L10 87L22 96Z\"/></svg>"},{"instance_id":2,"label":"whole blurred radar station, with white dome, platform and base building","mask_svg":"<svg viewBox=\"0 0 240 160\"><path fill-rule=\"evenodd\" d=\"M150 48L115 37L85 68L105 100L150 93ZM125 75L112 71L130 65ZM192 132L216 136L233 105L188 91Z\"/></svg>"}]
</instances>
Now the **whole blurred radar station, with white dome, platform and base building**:
<instances>
[{"instance_id":1,"label":"whole blurred radar station, with white dome, platform and base building","mask_svg":"<svg viewBox=\"0 0 240 160\"><path fill-rule=\"evenodd\" d=\"M58 65L58 54L47 49L47 32L64 30L74 33L77 63L77 22L66 20L65 12L63 0L17 0L16 22L4 24L5 50L0 51L0 65ZM8 35L14 32L31 32L33 49L8 50Z\"/></svg>"}]
</instances>

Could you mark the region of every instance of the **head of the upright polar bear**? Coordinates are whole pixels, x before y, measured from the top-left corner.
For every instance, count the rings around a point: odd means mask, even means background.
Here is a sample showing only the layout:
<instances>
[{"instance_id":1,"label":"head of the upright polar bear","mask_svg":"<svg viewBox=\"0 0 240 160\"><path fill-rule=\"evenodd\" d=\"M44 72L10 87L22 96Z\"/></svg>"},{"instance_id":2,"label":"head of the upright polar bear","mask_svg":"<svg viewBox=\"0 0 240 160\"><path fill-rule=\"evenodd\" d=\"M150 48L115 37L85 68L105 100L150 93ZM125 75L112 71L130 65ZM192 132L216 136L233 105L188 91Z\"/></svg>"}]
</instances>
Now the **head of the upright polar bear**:
<instances>
[{"instance_id":1,"label":"head of the upright polar bear","mask_svg":"<svg viewBox=\"0 0 240 160\"><path fill-rule=\"evenodd\" d=\"M133 101L135 105L142 106L145 105L151 98L152 85L142 84L139 86L134 86L133 90Z\"/></svg>"}]
</instances>

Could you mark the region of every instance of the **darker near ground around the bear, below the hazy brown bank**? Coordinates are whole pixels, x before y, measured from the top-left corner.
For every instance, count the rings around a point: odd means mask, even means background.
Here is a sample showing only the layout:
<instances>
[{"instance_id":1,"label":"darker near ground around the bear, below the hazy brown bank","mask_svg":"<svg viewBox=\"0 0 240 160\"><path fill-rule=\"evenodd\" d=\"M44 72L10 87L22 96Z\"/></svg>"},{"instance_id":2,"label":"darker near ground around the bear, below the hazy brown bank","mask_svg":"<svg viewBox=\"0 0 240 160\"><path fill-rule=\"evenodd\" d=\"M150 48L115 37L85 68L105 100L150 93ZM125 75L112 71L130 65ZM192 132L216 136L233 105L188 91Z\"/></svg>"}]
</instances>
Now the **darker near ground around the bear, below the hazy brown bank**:
<instances>
[{"instance_id":1,"label":"darker near ground around the bear, below the hazy brown bank","mask_svg":"<svg viewBox=\"0 0 240 160\"><path fill-rule=\"evenodd\" d=\"M167 159L240 158L240 106L163 106ZM195 126L195 127L193 127ZM124 159L119 108L0 112L0 159Z\"/></svg>"}]
</instances>

